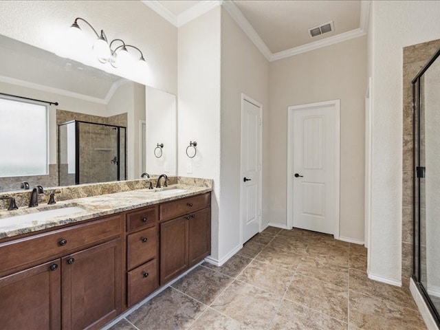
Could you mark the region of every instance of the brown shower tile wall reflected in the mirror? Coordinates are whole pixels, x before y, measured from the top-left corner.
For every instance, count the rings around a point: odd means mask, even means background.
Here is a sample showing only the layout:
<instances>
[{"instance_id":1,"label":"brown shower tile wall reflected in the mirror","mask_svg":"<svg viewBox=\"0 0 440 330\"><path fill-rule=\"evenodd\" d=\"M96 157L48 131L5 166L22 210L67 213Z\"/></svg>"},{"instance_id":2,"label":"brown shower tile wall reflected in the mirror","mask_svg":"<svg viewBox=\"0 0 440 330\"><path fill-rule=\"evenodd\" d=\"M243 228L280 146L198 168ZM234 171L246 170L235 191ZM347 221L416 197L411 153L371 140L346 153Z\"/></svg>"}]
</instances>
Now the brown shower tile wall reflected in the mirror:
<instances>
[{"instance_id":1,"label":"brown shower tile wall reflected in the mirror","mask_svg":"<svg viewBox=\"0 0 440 330\"><path fill-rule=\"evenodd\" d=\"M125 126L127 114L120 113L110 117L100 117L97 115L87 115L71 111L57 110L56 123L62 124L70 120L82 120L85 122L96 122L99 124L111 124ZM111 162L115 157L111 146L115 148L115 131L111 127L98 126L93 124L80 125L80 183L114 181L117 166ZM57 134L58 136L58 134ZM74 174L70 175L68 182L74 184Z\"/></svg>"}]
</instances>

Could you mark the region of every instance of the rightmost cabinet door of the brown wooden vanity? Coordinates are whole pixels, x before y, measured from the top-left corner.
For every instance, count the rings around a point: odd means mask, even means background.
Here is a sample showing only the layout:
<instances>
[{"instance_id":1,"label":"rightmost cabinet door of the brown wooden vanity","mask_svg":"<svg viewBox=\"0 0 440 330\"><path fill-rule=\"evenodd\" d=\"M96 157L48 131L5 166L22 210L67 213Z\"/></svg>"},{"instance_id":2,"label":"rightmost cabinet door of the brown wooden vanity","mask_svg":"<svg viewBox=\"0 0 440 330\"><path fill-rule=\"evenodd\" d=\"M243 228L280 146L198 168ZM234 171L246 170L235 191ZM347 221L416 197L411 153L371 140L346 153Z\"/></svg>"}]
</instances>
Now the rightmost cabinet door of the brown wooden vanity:
<instances>
[{"instance_id":1,"label":"rightmost cabinet door of the brown wooden vanity","mask_svg":"<svg viewBox=\"0 0 440 330\"><path fill-rule=\"evenodd\" d=\"M210 208L189 215L189 263L190 267L202 261L211 252Z\"/></svg>"}]
</instances>

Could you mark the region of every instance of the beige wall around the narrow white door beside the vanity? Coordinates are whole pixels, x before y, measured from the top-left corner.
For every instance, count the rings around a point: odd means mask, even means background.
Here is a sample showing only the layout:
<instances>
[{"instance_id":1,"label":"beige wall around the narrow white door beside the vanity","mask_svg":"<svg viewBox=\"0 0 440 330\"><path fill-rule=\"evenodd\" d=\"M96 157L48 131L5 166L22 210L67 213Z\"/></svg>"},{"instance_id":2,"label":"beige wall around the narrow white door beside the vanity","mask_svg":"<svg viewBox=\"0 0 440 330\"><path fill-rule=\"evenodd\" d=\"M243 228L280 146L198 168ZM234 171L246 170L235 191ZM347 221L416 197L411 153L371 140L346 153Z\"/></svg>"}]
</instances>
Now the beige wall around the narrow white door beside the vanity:
<instances>
[{"instance_id":1,"label":"beige wall around the narrow white door beside the vanity","mask_svg":"<svg viewBox=\"0 0 440 330\"><path fill-rule=\"evenodd\" d=\"M269 103L269 63L243 30L221 10L221 210L219 260L240 245L241 93L263 104L263 122ZM269 125L263 125L267 136ZM268 140L268 139L267 139ZM263 145L263 153L267 151ZM263 164L263 168L265 164ZM264 178L267 177L264 172ZM263 178L263 181L264 181ZM263 182L263 201L267 198ZM270 218L263 217L263 222Z\"/></svg>"}]
</instances>

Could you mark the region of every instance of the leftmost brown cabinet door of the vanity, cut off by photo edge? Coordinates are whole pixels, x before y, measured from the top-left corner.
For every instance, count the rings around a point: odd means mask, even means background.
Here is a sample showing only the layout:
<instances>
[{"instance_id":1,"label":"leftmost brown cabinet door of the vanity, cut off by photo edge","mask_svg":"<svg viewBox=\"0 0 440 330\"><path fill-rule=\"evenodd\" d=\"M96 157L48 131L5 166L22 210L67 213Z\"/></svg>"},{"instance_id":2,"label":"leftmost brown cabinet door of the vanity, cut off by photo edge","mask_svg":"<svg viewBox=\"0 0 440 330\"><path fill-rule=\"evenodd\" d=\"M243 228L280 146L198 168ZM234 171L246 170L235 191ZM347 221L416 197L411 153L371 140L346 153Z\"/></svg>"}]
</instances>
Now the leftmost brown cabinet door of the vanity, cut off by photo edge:
<instances>
[{"instance_id":1,"label":"leftmost brown cabinet door of the vanity, cut off by photo edge","mask_svg":"<svg viewBox=\"0 0 440 330\"><path fill-rule=\"evenodd\" d=\"M0 278L1 329L61 329L60 262Z\"/></svg>"}]
</instances>

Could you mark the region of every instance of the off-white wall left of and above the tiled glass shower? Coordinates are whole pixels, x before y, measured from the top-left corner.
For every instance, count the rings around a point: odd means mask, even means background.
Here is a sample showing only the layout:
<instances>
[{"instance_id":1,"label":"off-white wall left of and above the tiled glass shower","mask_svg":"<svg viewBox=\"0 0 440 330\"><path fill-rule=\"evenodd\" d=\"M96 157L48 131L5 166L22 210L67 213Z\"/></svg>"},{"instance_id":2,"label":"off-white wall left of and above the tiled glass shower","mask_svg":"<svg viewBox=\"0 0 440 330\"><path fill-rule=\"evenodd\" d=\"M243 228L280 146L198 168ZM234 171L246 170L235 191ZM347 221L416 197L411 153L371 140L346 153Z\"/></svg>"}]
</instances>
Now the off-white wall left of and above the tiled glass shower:
<instances>
[{"instance_id":1,"label":"off-white wall left of and above the tiled glass shower","mask_svg":"<svg viewBox=\"0 0 440 330\"><path fill-rule=\"evenodd\" d=\"M369 26L373 168L369 276L400 284L403 47L440 38L439 1L373 1ZM408 196L410 199L411 196ZM404 254L411 253L410 250Z\"/></svg>"}]
</instances>

